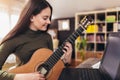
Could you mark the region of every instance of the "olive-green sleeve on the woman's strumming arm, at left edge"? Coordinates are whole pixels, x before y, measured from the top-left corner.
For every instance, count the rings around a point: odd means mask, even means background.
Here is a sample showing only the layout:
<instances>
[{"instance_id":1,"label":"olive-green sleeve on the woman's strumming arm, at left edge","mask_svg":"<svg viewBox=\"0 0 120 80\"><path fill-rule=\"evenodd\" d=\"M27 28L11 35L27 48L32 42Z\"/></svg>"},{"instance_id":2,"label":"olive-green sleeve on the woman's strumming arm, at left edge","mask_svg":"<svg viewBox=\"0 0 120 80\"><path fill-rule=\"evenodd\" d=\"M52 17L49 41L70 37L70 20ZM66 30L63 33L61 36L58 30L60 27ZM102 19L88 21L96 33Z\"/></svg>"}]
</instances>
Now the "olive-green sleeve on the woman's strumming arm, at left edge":
<instances>
[{"instance_id":1,"label":"olive-green sleeve on the woman's strumming arm, at left edge","mask_svg":"<svg viewBox=\"0 0 120 80\"><path fill-rule=\"evenodd\" d=\"M0 80L13 80L15 74L2 71L2 66L4 65L7 57L12 53L14 47L11 42L5 42L0 45Z\"/></svg>"}]
</instances>

